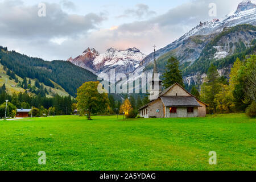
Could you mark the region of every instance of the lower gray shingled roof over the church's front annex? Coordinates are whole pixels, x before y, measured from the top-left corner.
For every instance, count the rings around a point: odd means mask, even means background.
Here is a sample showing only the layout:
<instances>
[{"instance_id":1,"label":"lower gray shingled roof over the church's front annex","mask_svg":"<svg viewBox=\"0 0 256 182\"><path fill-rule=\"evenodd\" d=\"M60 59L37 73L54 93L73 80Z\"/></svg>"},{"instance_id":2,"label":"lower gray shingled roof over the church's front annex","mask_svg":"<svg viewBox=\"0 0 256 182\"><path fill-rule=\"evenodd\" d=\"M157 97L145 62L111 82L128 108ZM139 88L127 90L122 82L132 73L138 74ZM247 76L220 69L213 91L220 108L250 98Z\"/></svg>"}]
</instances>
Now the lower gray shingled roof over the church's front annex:
<instances>
[{"instance_id":1,"label":"lower gray shingled roof over the church's front annex","mask_svg":"<svg viewBox=\"0 0 256 182\"><path fill-rule=\"evenodd\" d=\"M195 97L188 96L166 96L161 97L164 106L184 106L184 107L201 107L201 105L196 101Z\"/></svg>"}]
</instances>

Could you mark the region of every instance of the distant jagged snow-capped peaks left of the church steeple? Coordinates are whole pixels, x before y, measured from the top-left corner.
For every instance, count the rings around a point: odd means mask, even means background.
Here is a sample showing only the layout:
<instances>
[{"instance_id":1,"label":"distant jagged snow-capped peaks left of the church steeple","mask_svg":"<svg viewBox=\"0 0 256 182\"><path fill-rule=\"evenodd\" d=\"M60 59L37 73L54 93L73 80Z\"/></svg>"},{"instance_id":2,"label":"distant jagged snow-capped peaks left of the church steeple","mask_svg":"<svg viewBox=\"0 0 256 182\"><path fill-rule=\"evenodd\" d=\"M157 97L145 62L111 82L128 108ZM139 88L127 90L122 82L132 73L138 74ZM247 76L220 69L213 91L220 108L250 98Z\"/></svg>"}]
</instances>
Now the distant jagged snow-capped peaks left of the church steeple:
<instances>
[{"instance_id":1,"label":"distant jagged snow-capped peaks left of the church steeple","mask_svg":"<svg viewBox=\"0 0 256 182\"><path fill-rule=\"evenodd\" d=\"M146 55L135 47L126 50L109 48L102 54L94 48L87 48L82 55L75 59L71 57L68 61L97 75L100 73L110 74L110 69L115 69L115 73L127 74L133 72L144 57Z\"/></svg>"}]
</instances>

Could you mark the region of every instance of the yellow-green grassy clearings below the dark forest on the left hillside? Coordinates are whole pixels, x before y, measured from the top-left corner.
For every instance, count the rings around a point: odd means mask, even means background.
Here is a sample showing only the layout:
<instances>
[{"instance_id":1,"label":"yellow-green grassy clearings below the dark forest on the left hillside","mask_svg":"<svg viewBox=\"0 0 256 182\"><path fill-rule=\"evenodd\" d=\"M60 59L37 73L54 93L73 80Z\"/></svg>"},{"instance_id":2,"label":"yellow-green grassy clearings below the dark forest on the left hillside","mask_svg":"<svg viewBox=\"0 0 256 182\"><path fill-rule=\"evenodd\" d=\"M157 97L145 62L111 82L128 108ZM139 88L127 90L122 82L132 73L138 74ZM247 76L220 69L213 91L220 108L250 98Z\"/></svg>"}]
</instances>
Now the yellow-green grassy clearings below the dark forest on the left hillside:
<instances>
[{"instance_id":1,"label":"yellow-green grassy clearings below the dark forest on the left hillside","mask_svg":"<svg viewBox=\"0 0 256 182\"><path fill-rule=\"evenodd\" d=\"M1 76L0 77L0 86L2 86L3 83L5 83L6 79L7 79L7 84L6 84L7 93L12 94L14 92L15 93L25 92L25 90L23 88L20 88L18 86L16 86L16 87L11 86L11 85L17 85L17 83L15 83L14 80L9 80L9 76L6 75L6 71L3 70L3 65L2 64L0 64L0 76ZM23 82L23 78L21 78L17 75L16 75L16 77L18 77L19 81ZM28 79L29 78L27 78L27 81L28 81ZM55 88L51 88L52 89L51 95L57 93L57 94L59 94L59 96L69 96L69 94L67 92L65 92L65 90L60 85L56 84L53 81L52 81L52 83L53 83L53 85L55 85ZM31 84L35 85L35 80L31 79ZM40 83L40 84L42 84L42 83ZM49 91L49 89L50 89L49 86L46 86L44 84L43 84L43 86L44 86L44 88L46 88ZM51 97L51 96L47 96L47 97Z\"/></svg>"}]
</instances>

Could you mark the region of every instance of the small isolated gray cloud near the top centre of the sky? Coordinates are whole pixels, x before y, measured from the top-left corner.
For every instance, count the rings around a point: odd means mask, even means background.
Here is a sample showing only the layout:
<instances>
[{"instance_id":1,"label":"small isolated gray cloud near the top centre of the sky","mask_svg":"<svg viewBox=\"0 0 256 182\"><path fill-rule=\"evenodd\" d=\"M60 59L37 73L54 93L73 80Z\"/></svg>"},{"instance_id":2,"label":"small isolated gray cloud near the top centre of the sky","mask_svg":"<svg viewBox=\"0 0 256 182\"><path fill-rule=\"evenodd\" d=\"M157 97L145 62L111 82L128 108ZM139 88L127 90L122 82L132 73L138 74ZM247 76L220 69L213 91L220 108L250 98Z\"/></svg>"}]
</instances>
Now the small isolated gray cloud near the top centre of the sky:
<instances>
[{"instance_id":1,"label":"small isolated gray cloud near the top centre of the sky","mask_svg":"<svg viewBox=\"0 0 256 182\"><path fill-rule=\"evenodd\" d=\"M127 9L125 12L118 16L117 18L126 18L129 16L135 16L135 18L148 18L148 16L155 15L155 11L149 10L149 7L144 4L137 4L135 5L135 9Z\"/></svg>"}]
</instances>

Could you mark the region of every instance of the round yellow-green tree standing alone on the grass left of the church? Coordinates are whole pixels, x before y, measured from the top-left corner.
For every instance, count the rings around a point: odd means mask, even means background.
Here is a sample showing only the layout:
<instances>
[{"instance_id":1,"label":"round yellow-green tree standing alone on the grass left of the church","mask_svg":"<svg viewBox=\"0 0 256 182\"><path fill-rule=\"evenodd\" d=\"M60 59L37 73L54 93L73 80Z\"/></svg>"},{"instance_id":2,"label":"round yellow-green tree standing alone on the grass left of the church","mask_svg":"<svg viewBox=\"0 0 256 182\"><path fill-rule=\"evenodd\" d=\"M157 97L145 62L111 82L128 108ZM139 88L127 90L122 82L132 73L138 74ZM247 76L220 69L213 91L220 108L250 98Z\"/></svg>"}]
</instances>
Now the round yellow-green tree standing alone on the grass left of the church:
<instances>
[{"instance_id":1,"label":"round yellow-green tree standing alone on the grass left of the church","mask_svg":"<svg viewBox=\"0 0 256 182\"><path fill-rule=\"evenodd\" d=\"M80 113L87 113L88 120L92 114L102 113L109 106L108 94L100 82L85 82L77 89L77 108Z\"/></svg>"}]
</instances>

